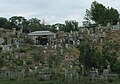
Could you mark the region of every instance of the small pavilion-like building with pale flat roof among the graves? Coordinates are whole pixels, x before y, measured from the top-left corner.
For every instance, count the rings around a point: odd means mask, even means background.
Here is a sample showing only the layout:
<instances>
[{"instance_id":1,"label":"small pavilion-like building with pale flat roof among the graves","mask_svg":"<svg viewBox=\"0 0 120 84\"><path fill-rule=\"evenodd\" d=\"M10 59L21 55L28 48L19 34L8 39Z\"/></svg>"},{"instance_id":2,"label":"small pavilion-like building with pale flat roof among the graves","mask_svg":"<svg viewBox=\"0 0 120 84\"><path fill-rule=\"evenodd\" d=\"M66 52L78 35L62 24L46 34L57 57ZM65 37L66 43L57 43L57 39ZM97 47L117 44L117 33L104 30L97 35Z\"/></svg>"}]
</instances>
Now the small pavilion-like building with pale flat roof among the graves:
<instances>
[{"instance_id":1,"label":"small pavilion-like building with pale flat roof among the graves","mask_svg":"<svg viewBox=\"0 0 120 84\"><path fill-rule=\"evenodd\" d=\"M28 34L34 41L35 45L52 44L56 34L50 31L34 31Z\"/></svg>"}]
</instances>

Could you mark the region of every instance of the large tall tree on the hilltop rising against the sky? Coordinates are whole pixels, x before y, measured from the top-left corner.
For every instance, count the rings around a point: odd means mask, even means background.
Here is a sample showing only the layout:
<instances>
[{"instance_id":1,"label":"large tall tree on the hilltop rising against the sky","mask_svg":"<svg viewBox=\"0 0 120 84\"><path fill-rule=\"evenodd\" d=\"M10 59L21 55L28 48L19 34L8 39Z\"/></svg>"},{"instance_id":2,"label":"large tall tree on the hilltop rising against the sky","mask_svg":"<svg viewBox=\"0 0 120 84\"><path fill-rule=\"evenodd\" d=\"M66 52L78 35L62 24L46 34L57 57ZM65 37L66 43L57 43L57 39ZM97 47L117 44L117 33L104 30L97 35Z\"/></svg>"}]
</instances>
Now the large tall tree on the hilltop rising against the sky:
<instances>
[{"instance_id":1,"label":"large tall tree on the hilltop rising against the sky","mask_svg":"<svg viewBox=\"0 0 120 84\"><path fill-rule=\"evenodd\" d=\"M119 18L119 13L114 8L106 8L97 1L92 2L91 8L86 10L85 18L87 21L94 21L96 24L106 25L108 22Z\"/></svg>"}]
</instances>

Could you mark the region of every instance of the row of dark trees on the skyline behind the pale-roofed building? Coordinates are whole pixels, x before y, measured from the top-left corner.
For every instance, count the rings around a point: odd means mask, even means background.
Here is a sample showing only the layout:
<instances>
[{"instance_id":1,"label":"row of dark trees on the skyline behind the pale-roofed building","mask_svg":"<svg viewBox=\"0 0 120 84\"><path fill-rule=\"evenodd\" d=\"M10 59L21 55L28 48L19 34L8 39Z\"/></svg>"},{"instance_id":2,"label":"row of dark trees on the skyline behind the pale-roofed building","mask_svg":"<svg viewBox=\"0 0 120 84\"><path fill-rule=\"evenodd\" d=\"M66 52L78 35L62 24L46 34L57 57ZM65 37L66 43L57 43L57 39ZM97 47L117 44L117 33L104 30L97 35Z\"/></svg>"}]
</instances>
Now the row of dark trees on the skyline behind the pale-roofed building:
<instances>
[{"instance_id":1,"label":"row of dark trees on the skyline behind the pale-roofed building","mask_svg":"<svg viewBox=\"0 0 120 84\"><path fill-rule=\"evenodd\" d=\"M49 30L57 32L58 30L64 32L77 31L78 22L75 20L66 20L64 24L45 24L38 18L26 19L23 16L12 16L9 19L0 17L0 27L5 29L16 28L17 30L23 29L24 32Z\"/></svg>"}]
</instances>

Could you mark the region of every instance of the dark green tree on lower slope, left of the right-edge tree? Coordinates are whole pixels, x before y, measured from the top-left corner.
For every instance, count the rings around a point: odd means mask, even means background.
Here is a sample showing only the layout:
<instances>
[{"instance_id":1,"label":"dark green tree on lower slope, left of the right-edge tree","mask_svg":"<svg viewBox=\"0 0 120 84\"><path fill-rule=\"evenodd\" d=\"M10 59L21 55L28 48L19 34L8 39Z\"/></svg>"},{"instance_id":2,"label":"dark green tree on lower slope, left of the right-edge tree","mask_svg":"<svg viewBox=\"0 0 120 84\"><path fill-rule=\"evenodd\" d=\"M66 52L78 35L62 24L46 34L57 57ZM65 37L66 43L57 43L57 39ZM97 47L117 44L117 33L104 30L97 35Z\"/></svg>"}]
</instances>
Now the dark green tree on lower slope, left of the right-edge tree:
<instances>
[{"instance_id":1,"label":"dark green tree on lower slope, left of the right-edge tree","mask_svg":"<svg viewBox=\"0 0 120 84\"><path fill-rule=\"evenodd\" d=\"M82 43L79 47L80 50L80 63L85 68L97 67L100 65L101 55L100 52L91 43Z\"/></svg>"}]
</instances>

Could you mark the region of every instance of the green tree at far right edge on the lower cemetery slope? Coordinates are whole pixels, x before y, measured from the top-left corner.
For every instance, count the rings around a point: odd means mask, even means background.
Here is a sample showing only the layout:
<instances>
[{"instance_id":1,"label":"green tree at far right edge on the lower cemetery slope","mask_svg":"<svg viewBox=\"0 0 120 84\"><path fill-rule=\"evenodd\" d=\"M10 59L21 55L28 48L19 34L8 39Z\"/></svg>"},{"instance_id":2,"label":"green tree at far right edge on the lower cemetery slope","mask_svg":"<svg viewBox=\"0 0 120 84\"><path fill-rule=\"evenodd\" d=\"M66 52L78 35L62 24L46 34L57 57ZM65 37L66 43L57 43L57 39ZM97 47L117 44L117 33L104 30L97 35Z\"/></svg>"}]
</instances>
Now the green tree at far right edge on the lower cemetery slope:
<instances>
[{"instance_id":1,"label":"green tree at far right edge on the lower cemetery slope","mask_svg":"<svg viewBox=\"0 0 120 84\"><path fill-rule=\"evenodd\" d=\"M113 68L113 65L117 61L118 50L119 50L119 44L116 41L110 41L103 45L102 55L103 55L104 67L107 67L108 64L106 61L108 61L110 63L111 69Z\"/></svg>"}]
</instances>

